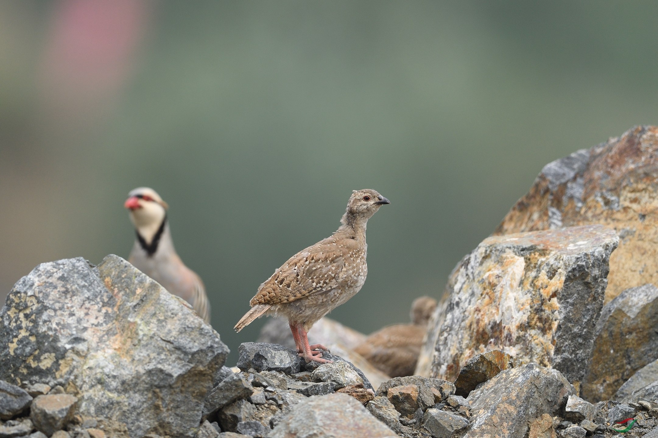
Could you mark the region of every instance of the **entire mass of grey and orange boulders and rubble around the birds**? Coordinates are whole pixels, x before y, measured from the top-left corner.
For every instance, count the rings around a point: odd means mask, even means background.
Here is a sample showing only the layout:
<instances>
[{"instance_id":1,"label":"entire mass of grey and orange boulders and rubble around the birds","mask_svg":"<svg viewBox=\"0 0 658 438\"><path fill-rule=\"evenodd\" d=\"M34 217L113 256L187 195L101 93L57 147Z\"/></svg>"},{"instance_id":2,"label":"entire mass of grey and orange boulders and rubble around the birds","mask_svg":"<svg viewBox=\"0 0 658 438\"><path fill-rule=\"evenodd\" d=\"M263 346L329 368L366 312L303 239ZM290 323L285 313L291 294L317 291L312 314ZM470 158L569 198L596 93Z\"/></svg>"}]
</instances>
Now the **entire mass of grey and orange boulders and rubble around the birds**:
<instances>
[{"instance_id":1,"label":"entire mass of grey and orange boulders and rubble around the birds","mask_svg":"<svg viewBox=\"0 0 658 438\"><path fill-rule=\"evenodd\" d=\"M656 152L636 128L547 165L455 268L425 376L362 370L363 335L331 320L330 364L243 343L228 368L122 258L41 264L0 311L0 438L658 438Z\"/></svg>"}]
</instances>

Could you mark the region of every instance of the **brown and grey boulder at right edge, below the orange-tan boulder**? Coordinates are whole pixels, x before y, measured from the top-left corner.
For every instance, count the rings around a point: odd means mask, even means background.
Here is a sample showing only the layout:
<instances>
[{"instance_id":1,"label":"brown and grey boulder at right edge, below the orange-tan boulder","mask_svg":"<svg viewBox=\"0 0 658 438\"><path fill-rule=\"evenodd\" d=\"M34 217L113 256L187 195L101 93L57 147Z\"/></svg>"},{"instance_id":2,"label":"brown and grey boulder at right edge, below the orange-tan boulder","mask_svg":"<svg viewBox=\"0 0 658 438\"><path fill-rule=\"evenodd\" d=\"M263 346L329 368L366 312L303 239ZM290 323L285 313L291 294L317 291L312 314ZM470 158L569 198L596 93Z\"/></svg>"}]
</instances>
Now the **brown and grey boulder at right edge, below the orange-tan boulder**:
<instances>
[{"instance_id":1,"label":"brown and grey boulder at right edge, below the orange-tan boulder","mask_svg":"<svg viewBox=\"0 0 658 438\"><path fill-rule=\"evenodd\" d=\"M610 400L640 368L658 359L658 288L632 287L603 306L582 385L592 402Z\"/></svg>"}]
</instances>

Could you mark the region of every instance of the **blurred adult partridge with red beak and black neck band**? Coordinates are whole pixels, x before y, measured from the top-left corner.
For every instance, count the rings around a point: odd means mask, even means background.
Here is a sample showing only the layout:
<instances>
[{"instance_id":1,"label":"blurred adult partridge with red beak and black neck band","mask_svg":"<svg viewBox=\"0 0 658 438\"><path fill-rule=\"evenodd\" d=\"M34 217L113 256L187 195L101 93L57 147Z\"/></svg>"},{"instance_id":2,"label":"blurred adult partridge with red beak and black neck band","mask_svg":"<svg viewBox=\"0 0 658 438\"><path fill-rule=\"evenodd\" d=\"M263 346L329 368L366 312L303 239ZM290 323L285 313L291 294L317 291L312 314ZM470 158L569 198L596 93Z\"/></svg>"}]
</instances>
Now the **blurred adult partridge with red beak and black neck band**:
<instances>
[{"instance_id":1,"label":"blurred adult partridge with red beak and black neck band","mask_svg":"<svg viewBox=\"0 0 658 438\"><path fill-rule=\"evenodd\" d=\"M164 289L191 304L210 322L210 304L201 278L180 260L166 218L168 205L155 190L138 187L128 193L124 207L130 210L137 239L128 261Z\"/></svg>"}]
</instances>

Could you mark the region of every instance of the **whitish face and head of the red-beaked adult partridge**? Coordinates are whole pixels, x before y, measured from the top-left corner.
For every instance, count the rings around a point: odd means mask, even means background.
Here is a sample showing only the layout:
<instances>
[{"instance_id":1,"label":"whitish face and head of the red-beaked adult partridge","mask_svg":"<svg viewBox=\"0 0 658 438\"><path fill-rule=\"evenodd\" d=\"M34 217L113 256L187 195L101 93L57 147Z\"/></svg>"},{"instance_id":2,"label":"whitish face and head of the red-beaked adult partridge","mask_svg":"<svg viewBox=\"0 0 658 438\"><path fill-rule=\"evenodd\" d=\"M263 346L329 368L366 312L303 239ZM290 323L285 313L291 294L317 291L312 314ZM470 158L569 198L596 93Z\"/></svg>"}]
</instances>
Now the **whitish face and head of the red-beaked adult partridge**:
<instances>
[{"instance_id":1,"label":"whitish face and head of the red-beaked adult partridge","mask_svg":"<svg viewBox=\"0 0 658 438\"><path fill-rule=\"evenodd\" d=\"M130 210L130 220L139 235L147 243L151 243L153 236L163 224L166 216L166 203L155 190L149 187L138 187L128 193L124 207Z\"/></svg>"}]
</instances>

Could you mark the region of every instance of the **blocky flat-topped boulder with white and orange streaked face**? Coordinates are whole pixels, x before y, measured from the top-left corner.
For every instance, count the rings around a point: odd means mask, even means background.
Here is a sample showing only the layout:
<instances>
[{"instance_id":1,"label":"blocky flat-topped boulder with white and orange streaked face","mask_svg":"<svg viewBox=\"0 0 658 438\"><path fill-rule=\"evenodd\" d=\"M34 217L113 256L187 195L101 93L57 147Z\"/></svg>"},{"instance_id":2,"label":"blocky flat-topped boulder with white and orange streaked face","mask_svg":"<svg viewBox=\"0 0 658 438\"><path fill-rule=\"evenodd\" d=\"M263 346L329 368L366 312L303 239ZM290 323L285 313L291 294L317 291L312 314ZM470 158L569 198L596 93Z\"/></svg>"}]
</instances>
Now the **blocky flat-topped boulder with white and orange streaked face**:
<instances>
[{"instance_id":1,"label":"blocky flat-topped boulder with white and orange streaked face","mask_svg":"<svg viewBox=\"0 0 658 438\"><path fill-rule=\"evenodd\" d=\"M419 360L432 368L417 373L455 380L475 354L500 349L581 381L618 241L598 225L488 237L451 274L424 349L432 360Z\"/></svg>"}]
</instances>

